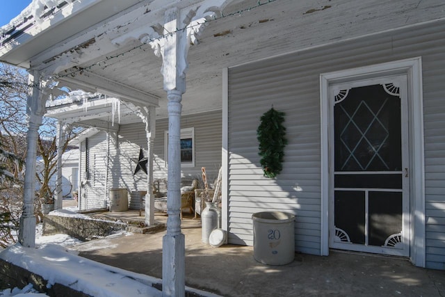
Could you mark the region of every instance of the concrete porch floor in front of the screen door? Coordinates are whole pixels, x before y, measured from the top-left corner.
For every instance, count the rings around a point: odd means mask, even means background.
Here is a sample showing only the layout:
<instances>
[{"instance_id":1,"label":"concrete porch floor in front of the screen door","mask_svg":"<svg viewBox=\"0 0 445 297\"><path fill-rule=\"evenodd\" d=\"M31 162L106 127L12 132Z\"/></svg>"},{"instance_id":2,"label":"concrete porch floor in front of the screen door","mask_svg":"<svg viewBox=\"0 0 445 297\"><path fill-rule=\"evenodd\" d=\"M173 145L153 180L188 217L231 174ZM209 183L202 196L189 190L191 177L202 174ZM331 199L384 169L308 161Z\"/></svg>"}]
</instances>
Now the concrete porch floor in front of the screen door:
<instances>
[{"instance_id":1,"label":"concrete porch floor in front of the screen door","mask_svg":"<svg viewBox=\"0 0 445 297\"><path fill-rule=\"evenodd\" d=\"M105 213L143 220L138 211ZM167 216L156 213L155 220ZM407 259L332 250L328 257L296 253L284 266L253 258L250 246L202 243L200 219L184 215L186 285L220 296L445 296L445 271L413 266ZM81 257L127 271L162 277L162 238L127 234L72 247Z\"/></svg>"}]
</instances>

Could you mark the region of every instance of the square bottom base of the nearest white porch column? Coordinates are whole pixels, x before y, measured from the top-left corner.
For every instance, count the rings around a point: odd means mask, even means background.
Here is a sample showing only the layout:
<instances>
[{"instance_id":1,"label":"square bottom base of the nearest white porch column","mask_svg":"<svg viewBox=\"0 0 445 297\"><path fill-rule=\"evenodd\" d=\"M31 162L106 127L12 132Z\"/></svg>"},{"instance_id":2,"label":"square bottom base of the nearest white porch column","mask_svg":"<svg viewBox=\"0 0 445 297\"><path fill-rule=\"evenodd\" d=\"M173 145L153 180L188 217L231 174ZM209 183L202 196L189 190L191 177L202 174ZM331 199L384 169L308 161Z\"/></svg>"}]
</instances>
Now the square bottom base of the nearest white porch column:
<instances>
[{"instance_id":1,"label":"square bottom base of the nearest white porch column","mask_svg":"<svg viewBox=\"0 0 445 297\"><path fill-rule=\"evenodd\" d=\"M163 236L162 296L185 296L186 236Z\"/></svg>"}]
</instances>

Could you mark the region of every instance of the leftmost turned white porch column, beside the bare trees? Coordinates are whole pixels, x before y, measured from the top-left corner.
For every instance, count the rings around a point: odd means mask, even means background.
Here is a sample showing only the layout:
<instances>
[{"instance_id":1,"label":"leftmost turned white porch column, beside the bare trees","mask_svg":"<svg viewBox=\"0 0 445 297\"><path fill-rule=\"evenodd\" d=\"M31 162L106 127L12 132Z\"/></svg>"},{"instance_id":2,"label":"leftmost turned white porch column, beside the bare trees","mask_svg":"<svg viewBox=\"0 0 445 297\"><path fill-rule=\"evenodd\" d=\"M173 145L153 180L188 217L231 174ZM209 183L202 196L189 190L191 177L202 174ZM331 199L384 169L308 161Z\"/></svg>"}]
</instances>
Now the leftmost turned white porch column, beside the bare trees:
<instances>
[{"instance_id":1,"label":"leftmost turned white porch column, beside the bare trees","mask_svg":"<svg viewBox=\"0 0 445 297\"><path fill-rule=\"evenodd\" d=\"M40 74L34 71L29 74L29 85L33 85L26 102L28 115L28 133L26 134L26 164L24 177L23 212L20 217L19 243L29 248L35 247L35 165L37 159L38 129L42 125L44 102L40 90Z\"/></svg>"}]
</instances>

